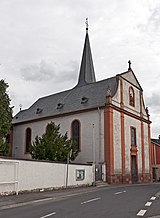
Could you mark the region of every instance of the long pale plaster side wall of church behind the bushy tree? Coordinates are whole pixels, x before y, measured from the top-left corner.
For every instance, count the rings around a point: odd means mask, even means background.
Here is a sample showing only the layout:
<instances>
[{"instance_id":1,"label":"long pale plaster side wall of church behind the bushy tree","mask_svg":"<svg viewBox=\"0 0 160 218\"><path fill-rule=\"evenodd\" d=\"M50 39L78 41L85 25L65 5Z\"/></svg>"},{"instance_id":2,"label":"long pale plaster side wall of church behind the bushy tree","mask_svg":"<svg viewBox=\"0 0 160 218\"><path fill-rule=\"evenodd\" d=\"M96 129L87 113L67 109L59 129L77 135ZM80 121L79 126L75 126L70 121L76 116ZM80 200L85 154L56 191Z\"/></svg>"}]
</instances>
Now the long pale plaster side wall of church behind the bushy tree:
<instances>
[{"instance_id":1,"label":"long pale plaster side wall of church behind the bushy tree","mask_svg":"<svg viewBox=\"0 0 160 218\"><path fill-rule=\"evenodd\" d=\"M85 113L74 114L70 116L55 118L52 120L43 120L29 124L21 124L13 128L13 156L17 158L30 158L29 154L25 154L25 131L26 128L32 129L32 140L41 136L49 122L54 121L60 124L62 134L68 132L71 137L71 123L73 120L79 120L81 123L81 151L76 158L77 163L87 163L93 161L93 139L95 143L96 162L104 161L104 111L95 110ZM93 137L94 124L94 137Z\"/></svg>"}]
</instances>

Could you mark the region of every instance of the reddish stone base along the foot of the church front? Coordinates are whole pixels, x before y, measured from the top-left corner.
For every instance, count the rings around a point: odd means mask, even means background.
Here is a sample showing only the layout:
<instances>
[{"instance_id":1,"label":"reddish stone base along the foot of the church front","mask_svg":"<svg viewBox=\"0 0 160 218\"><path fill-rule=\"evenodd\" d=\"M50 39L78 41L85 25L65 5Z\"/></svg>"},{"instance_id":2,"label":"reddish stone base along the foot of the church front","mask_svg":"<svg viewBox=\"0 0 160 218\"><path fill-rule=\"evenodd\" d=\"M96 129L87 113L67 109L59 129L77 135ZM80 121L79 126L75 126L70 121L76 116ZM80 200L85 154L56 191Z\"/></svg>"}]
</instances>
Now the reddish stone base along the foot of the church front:
<instances>
[{"instance_id":1,"label":"reddish stone base along the foot of the church front","mask_svg":"<svg viewBox=\"0 0 160 218\"><path fill-rule=\"evenodd\" d=\"M122 176L121 174L108 175L107 182L109 184L132 184L132 178L130 174ZM149 173L138 174L138 181L136 183L149 183L152 182L152 177ZM134 182L135 183L135 182Z\"/></svg>"}]
</instances>

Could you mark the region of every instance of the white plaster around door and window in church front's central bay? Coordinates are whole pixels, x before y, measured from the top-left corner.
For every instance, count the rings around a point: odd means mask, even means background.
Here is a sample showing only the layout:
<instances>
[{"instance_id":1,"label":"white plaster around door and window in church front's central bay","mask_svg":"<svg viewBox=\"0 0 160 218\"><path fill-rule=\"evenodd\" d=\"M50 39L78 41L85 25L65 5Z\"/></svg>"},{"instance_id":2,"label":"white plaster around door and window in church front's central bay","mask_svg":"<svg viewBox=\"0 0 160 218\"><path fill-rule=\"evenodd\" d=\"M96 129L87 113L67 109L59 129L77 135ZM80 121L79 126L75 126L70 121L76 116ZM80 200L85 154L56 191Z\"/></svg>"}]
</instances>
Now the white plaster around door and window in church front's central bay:
<instances>
[{"instance_id":1,"label":"white plaster around door and window in church front's central bay","mask_svg":"<svg viewBox=\"0 0 160 218\"><path fill-rule=\"evenodd\" d=\"M141 144L141 123L132 117L125 115L125 157L126 157L126 172L130 172L130 149L131 149L131 126L136 128L136 142L138 149L138 172L142 172L142 144Z\"/></svg>"}]
</instances>

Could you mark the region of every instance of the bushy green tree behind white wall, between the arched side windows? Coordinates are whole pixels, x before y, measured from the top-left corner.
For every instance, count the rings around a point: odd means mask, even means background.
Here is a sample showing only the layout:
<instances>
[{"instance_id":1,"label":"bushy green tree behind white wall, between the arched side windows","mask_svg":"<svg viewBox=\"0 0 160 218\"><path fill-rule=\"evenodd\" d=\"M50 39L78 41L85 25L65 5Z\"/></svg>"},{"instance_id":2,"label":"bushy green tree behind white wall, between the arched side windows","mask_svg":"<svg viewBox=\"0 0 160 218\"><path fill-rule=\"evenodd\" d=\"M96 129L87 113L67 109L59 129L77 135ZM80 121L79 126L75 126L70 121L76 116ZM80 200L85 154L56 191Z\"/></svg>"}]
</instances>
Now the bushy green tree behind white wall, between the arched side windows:
<instances>
[{"instance_id":1,"label":"bushy green tree behind white wall, between the arched side windows","mask_svg":"<svg viewBox=\"0 0 160 218\"><path fill-rule=\"evenodd\" d=\"M67 133L62 135L59 131L60 125L51 122L42 137L36 136L35 141L30 145L33 159L66 162L68 154L70 160L76 158L78 155L76 145L68 139Z\"/></svg>"}]
</instances>

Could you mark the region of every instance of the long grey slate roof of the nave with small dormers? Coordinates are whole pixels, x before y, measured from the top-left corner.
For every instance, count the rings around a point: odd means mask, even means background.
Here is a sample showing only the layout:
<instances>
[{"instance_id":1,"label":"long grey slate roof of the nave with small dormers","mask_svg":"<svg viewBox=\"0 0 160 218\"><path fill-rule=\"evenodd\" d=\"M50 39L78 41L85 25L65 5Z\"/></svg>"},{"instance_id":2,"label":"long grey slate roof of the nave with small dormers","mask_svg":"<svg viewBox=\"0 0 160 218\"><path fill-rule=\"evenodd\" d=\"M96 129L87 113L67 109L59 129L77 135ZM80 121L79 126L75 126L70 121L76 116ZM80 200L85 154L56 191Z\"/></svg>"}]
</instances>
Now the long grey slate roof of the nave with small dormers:
<instances>
[{"instance_id":1,"label":"long grey slate roof of the nave with small dormers","mask_svg":"<svg viewBox=\"0 0 160 218\"><path fill-rule=\"evenodd\" d=\"M38 99L29 109L20 111L13 118L13 124L70 112L105 106L108 88L114 96L117 90L116 76L99 82L46 96ZM57 108L59 105L59 108ZM38 111L37 111L38 109Z\"/></svg>"}]
</instances>

